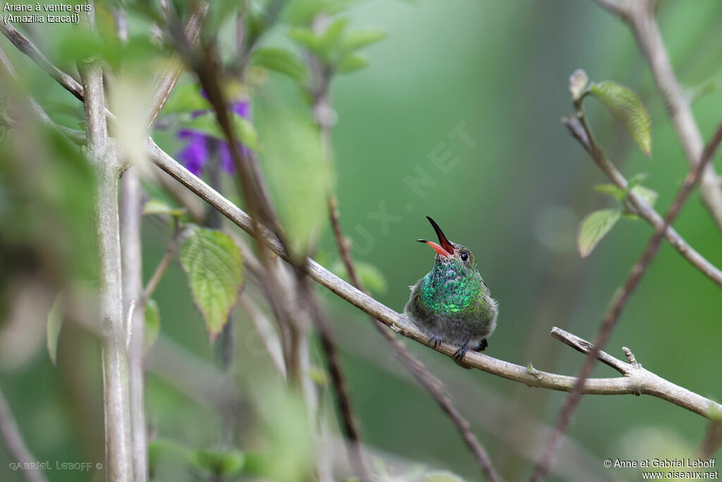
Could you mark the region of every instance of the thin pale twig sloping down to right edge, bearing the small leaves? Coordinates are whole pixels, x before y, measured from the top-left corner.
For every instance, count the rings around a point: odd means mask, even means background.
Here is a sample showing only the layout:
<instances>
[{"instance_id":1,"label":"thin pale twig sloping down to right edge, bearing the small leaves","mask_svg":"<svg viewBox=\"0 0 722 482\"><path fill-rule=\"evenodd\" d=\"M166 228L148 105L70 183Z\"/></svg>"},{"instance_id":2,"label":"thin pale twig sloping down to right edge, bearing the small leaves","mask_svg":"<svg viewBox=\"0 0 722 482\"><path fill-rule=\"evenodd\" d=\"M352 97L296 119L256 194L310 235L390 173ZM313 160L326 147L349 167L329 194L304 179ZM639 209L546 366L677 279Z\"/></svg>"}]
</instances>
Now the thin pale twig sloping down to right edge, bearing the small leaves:
<instances>
[{"instance_id":1,"label":"thin pale twig sloping down to right edge, bearing the small leaves","mask_svg":"<svg viewBox=\"0 0 722 482\"><path fill-rule=\"evenodd\" d=\"M562 124L567 126L569 132L575 139L578 140L580 145L589 153L592 160L599 165L601 171L616 184L620 189L627 189L627 179L622 176L611 160L606 158L604 152L602 152L599 145L596 144L594 138L589 130L586 123L586 119L582 111L578 111L577 116L567 116L562 119ZM640 215L644 220L653 226L656 230L661 229L664 226L664 219L654 210L651 205L648 205L641 197L638 196L635 191L630 191L627 194L627 198L630 199L632 205L635 207L636 213ZM671 226L667 226L664 229L664 237L669 241L669 244L676 249L679 254L682 254L684 259L687 259L697 270L703 273L706 277L713 281L716 285L722 288L722 271L716 266L710 263L705 257L695 251L687 241L684 241L682 236L674 230Z\"/></svg>"}]
</instances>

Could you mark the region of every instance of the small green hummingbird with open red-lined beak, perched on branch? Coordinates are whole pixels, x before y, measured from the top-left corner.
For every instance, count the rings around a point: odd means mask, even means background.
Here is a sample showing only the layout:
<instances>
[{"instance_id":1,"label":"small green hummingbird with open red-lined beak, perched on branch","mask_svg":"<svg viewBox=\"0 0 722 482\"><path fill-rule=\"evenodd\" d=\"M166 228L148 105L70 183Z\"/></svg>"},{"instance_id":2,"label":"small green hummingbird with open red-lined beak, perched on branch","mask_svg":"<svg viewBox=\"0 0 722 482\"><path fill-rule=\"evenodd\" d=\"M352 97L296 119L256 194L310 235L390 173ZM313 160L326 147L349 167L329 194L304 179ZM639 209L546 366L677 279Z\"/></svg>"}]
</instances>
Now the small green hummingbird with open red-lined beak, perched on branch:
<instances>
[{"instance_id":1,"label":"small green hummingbird with open red-lined beak, perched on branch","mask_svg":"<svg viewBox=\"0 0 722 482\"><path fill-rule=\"evenodd\" d=\"M428 216L439 243L419 239L436 251L434 267L411 288L404 314L429 336L434 348L439 343L458 346L453 354L462 361L466 351L484 351L496 328L499 304L484 283L476 259L461 244L452 243Z\"/></svg>"}]
</instances>

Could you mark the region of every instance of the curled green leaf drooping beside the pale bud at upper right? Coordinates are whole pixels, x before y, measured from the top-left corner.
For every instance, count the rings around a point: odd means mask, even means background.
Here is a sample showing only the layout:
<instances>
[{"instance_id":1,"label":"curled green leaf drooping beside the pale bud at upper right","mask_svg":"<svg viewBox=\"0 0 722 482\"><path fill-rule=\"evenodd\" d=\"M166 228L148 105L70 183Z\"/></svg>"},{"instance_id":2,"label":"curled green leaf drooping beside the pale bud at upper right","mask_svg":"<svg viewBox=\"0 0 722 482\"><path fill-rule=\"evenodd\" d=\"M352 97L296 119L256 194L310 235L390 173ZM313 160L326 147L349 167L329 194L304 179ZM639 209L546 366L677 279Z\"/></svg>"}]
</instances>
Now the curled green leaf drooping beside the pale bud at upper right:
<instances>
[{"instance_id":1,"label":"curled green leaf drooping beside the pale bud at upper right","mask_svg":"<svg viewBox=\"0 0 722 482\"><path fill-rule=\"evenodd\" d=\"M649 156L652 151L651 120L639 96L630 88L611 80L592 84L588 92L625 124L627 131Z\"/></svg>"}]
</instances>

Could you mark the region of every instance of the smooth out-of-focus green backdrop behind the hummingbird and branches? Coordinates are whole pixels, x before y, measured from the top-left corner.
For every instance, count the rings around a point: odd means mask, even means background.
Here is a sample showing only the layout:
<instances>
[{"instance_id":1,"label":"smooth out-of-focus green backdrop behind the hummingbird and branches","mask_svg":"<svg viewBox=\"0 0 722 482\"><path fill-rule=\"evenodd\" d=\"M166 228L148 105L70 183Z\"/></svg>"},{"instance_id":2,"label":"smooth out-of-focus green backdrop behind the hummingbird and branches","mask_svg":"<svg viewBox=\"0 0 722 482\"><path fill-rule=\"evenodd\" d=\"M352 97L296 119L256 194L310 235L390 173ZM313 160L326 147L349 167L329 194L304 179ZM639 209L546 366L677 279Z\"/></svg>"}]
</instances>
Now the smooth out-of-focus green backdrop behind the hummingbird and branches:
<instances>
[{"instance_id":1,"label":"smooth out-of-focus green backdrop behind the hummingbird and branches","mask_svg":"<svg viewBox=\"0 0 722 482\"><path fill-rule=\"evenodd\" d=\"M645 185L658 191L659 211L669 206L687 172L632 34L591 1L378 0L354 4L347 14L352 25L388 32L388 38L367 49L370 67L339 77L332 86L341 223L354 242L357 261L373 264L386 278L388 288L375 296L396 311L403 309L408 286L432 264L432 251L415 242L432 236L425 220L430 215L451 240L474 252L500 303L499 324L486 353L576 374L583 356L552 340L549 330L562 327L593 339L609 299L652 231L643 221L622 220L590 257L580 259L575 246L580 220L611 201L593 191L593 185L606 178L559 122L572 111L569 74L583 68L594 81L613 79L639 93L652 119L650 159L599 103L588 101L586 112L600 145L625 176L650 174ZM720 2L661 1L658 19L686 87L721 78ZM267 42L286 45L283 28ZM4 38L0 45L19 64L21 75L32 79L31 92L46 90L74 105L71 95L11 52ZM721 90L695 103L705 138L716 129L721 107ZM450 136L460 126L468 139ZM159 134L157 139L165 138ZM165 142L171 152L177 147ZM445 150L458 158L446 173L432 162ZM714 162L722 170L718 158ZM407 179L418 176L419 168L433 180L433 186L422 188L422 197ZM393 219L383 225L379 212ZM722 266L720 233L697 193L675 227L710 262ZM147 280L170 232L148 221L143 228ZM327 223L318 259L329 265L338 260ZM474 460L456 431L396 364L367 317L328 293L318 293L339 339L365 442L392 459L477 480ZM177 263L154 298L162 333L214 363L214 349ZM720 400L721 313L718 288L664 244L606 350L623 358L621 347L628 346L645 368ZM268 359L258 356L258 340L240 310L234 322L239 390L253 400L271 369ZM0 346L8 331L0 325ZM547 437L544 427L556 421L566 395L465 371L439 353L408 340L405 344L445 380L500 472L508 480L529 477ZM103 462L95 344L79 330L64 327L55 367L43 345L42 339L28 345L32 350L22 359L0 353L0 384L27 443L40 460ZM313 351L318 363L320 353ZM601 366L595 376L616 372ZM327 394L323 403L331 407ZM217 412L152 374L147 408L153 434L192 448L219 444ZM249 427L242 442L262 447L258 410L241 413L248 417L242 426ZM636 480L634 470L605 469L603 460L664 457L666 451L671 457L687 456L704 433L703 418L653 397L586 396L569 431L573 442L565 444L550 479ZM343 457L341 447L336 452ZM0 479L22 480L8 469L10 461L0 444ZM188 477L178 468L166 470L160 480ZM95 472L53 470L47 475L53 481L79 481L97 479Z\"/></svg>"}]
</instances>

